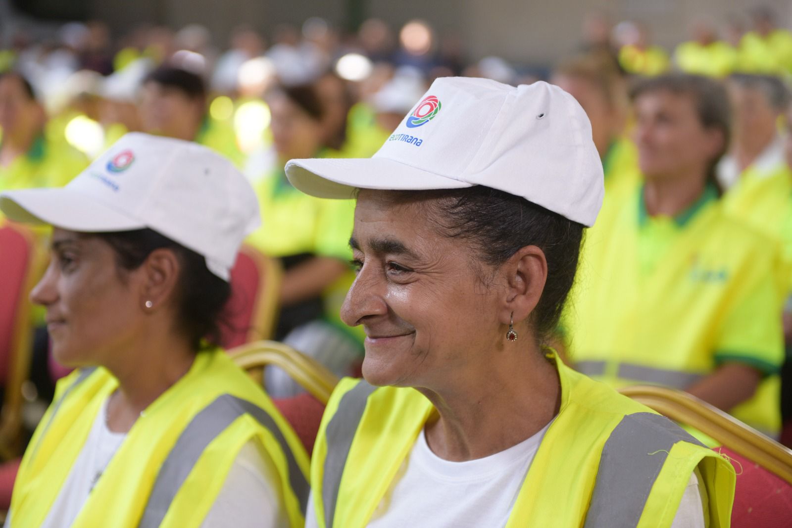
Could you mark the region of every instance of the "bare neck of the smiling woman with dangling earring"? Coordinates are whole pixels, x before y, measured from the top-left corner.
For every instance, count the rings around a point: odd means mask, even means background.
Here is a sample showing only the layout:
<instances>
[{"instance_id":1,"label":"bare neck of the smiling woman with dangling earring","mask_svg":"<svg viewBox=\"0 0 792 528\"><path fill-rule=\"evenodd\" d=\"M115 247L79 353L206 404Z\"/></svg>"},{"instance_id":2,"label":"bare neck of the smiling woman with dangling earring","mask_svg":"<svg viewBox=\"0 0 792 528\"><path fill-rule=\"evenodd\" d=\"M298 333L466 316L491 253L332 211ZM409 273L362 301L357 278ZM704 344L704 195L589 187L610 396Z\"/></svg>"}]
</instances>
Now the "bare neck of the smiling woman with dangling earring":
<instances>
[{"instance_id":1,"label":"bare neck of the smiling woman with dangling earring","mask_svg":"<svg viewBox=\"0 0 792 528\"><path fill-rule=\"evenodd\" d=\"M558 370L538 347L495 355L467 379L418 388L439 413L426 425L426 439L440 458L462 462L499 453L535 435L558 414Z\"/></svg>"}]
</instances>

